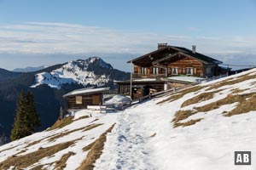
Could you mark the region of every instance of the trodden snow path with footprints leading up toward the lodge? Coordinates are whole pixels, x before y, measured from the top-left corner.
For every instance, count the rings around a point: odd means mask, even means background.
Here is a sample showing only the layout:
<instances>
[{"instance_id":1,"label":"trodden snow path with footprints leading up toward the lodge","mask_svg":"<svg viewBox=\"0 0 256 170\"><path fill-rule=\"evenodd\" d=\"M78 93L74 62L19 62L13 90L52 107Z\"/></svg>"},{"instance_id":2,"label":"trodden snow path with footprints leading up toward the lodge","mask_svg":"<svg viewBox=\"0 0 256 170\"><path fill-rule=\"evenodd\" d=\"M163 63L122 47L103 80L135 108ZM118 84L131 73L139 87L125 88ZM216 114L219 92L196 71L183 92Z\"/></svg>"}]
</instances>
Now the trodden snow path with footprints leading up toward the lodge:
<instances>
[{"instance_id":1,"label":"trodden snow path with footprints leading up toward the lodge","mask_svg":"<svg viewBox=\"0 0 256 170\"><path fill-rule=\"evenodd\" d=\"M150 135L142 122L142 114L134 110L127 109L120 113L104 146L108 152L103 152L95 169L156 169L150 163Z\"/></svg>"}]
</instances>

